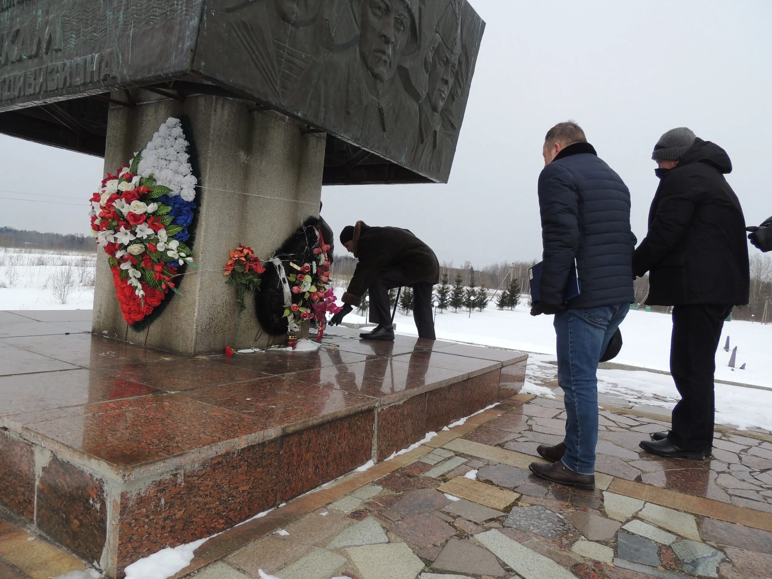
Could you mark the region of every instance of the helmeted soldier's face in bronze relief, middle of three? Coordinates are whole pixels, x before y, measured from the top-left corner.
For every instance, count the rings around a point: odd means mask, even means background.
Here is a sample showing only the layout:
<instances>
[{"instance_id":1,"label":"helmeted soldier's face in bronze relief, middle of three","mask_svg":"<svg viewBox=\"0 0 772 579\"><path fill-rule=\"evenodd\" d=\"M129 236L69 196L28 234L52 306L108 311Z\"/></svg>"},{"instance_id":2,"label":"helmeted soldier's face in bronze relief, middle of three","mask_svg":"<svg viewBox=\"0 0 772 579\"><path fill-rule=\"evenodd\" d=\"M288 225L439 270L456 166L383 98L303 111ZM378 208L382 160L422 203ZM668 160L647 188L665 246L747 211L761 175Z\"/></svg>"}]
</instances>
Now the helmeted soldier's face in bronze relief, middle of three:
<instances>
[{"instance_id":1,"label":"helmeted soldier's face in bronze relief, middle of three","mask_svg":"<svg viewBox=\"0 0 772 579\"><path fill-rule=\"evenodd\" d=\"M379 83L397 72L411 36L411 15L402 0L361 0L359 53Z\"/></svg>"}]
</instances>

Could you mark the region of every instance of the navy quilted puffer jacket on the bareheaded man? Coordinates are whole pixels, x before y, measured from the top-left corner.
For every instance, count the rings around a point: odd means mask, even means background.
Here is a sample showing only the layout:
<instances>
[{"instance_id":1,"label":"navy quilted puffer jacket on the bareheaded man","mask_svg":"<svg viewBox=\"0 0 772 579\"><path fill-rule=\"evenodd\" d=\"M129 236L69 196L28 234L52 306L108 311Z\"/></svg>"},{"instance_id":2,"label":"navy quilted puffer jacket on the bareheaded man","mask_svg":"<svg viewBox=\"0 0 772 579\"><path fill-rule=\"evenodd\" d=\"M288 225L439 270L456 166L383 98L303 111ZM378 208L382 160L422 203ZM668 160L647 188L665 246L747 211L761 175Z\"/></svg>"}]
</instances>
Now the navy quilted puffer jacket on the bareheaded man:
<instances>
[{"instance_id":1,"label":"navy quilted puffer jacket on the bareheaded man","mask_svg":"<svg viewBox=\"0 0 772 579\"><path fill-rule=\"evenodd\" d=\"M568 308L611 306L635 299L630 191L589 143L560 151L539 175L543 265L539 297L564 302L574 259L581 294Z\"/></svg>"}]
</instances>

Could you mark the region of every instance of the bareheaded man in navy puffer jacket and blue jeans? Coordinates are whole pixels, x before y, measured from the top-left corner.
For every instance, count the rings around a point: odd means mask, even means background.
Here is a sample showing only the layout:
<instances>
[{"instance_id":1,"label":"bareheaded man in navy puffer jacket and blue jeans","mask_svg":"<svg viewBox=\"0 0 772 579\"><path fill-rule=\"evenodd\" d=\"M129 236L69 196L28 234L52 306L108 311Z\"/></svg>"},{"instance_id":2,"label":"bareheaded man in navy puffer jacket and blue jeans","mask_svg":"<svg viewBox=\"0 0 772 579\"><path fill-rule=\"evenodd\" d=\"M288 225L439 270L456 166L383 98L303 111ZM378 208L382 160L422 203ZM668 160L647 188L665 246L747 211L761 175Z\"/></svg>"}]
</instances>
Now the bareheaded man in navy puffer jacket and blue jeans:
<instances>
[{"instance_id":1,"label":"bareheaded man in navy puffer jacket and blue jeans","mask_svg":"<svg viewBox=\"0 0 772 579\"><path fill-rule=\"evenodd\" d=\"M540 301L531 314L555 314L557 381L566 405L566 438L537 450L550 465L531 464L543 479L594 489L598 442L598 362L625 319L633 290L630 191L587 143L574 122L552 127L539 175L543 265ZM577 265L581 293L564 300Z\"/></svg>"}]
</instances>

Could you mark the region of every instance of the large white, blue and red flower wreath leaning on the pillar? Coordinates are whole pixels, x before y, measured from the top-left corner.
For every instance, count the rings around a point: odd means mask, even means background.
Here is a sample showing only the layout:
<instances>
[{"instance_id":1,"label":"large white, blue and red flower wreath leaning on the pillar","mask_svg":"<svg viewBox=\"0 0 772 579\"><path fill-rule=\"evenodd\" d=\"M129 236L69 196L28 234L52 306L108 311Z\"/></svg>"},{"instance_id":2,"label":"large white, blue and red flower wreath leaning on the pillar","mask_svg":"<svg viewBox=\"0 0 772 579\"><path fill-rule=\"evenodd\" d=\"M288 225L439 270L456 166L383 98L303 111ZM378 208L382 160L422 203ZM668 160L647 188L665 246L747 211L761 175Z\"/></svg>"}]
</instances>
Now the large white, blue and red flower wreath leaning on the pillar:
<instances>
[{"instance_id":1,"label":"large white, blue and red flower wreath leaning on the pillar","mask_svg":"<svg viewBox=\"0 0 772 579\"><path fill-rule=\"evenodd\" d=\"M107 253L120 311L141 322L172 291L182 266L195 266L185 242L196 178L181 121L169 118L143 151L107 174L91 198L92 235Z\"/></svg>"}]
</instances>

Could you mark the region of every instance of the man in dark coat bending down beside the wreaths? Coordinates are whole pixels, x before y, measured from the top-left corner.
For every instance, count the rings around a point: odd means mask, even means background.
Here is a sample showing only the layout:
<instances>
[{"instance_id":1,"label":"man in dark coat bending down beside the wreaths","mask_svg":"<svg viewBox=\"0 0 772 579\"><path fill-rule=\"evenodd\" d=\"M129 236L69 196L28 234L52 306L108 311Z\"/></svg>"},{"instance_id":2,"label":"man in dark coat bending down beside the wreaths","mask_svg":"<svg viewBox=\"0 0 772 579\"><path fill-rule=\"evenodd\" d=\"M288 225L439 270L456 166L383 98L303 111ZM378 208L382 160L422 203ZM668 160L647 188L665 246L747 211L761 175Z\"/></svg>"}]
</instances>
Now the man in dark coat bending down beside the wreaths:
<instances>
[{"instance_id":1,"label":"man in dark coat bending down beside the wreaths","mask_svg":"<svg viewBox=\"0 0 772 579\"><path fill-rule=\"evenodd\" d=\"M368 291L370 319L378 323L378 327L360 337L394 340L388 290L411 286L418 337L434 340L432 288L439 281L439 263L432 249L408 229L370 227L361 221L347 225L340 232L340 242L359 262L342 298L344 309L336 313L330 323L337 325L343 321Z\"/></svg>"}]
</instances>

